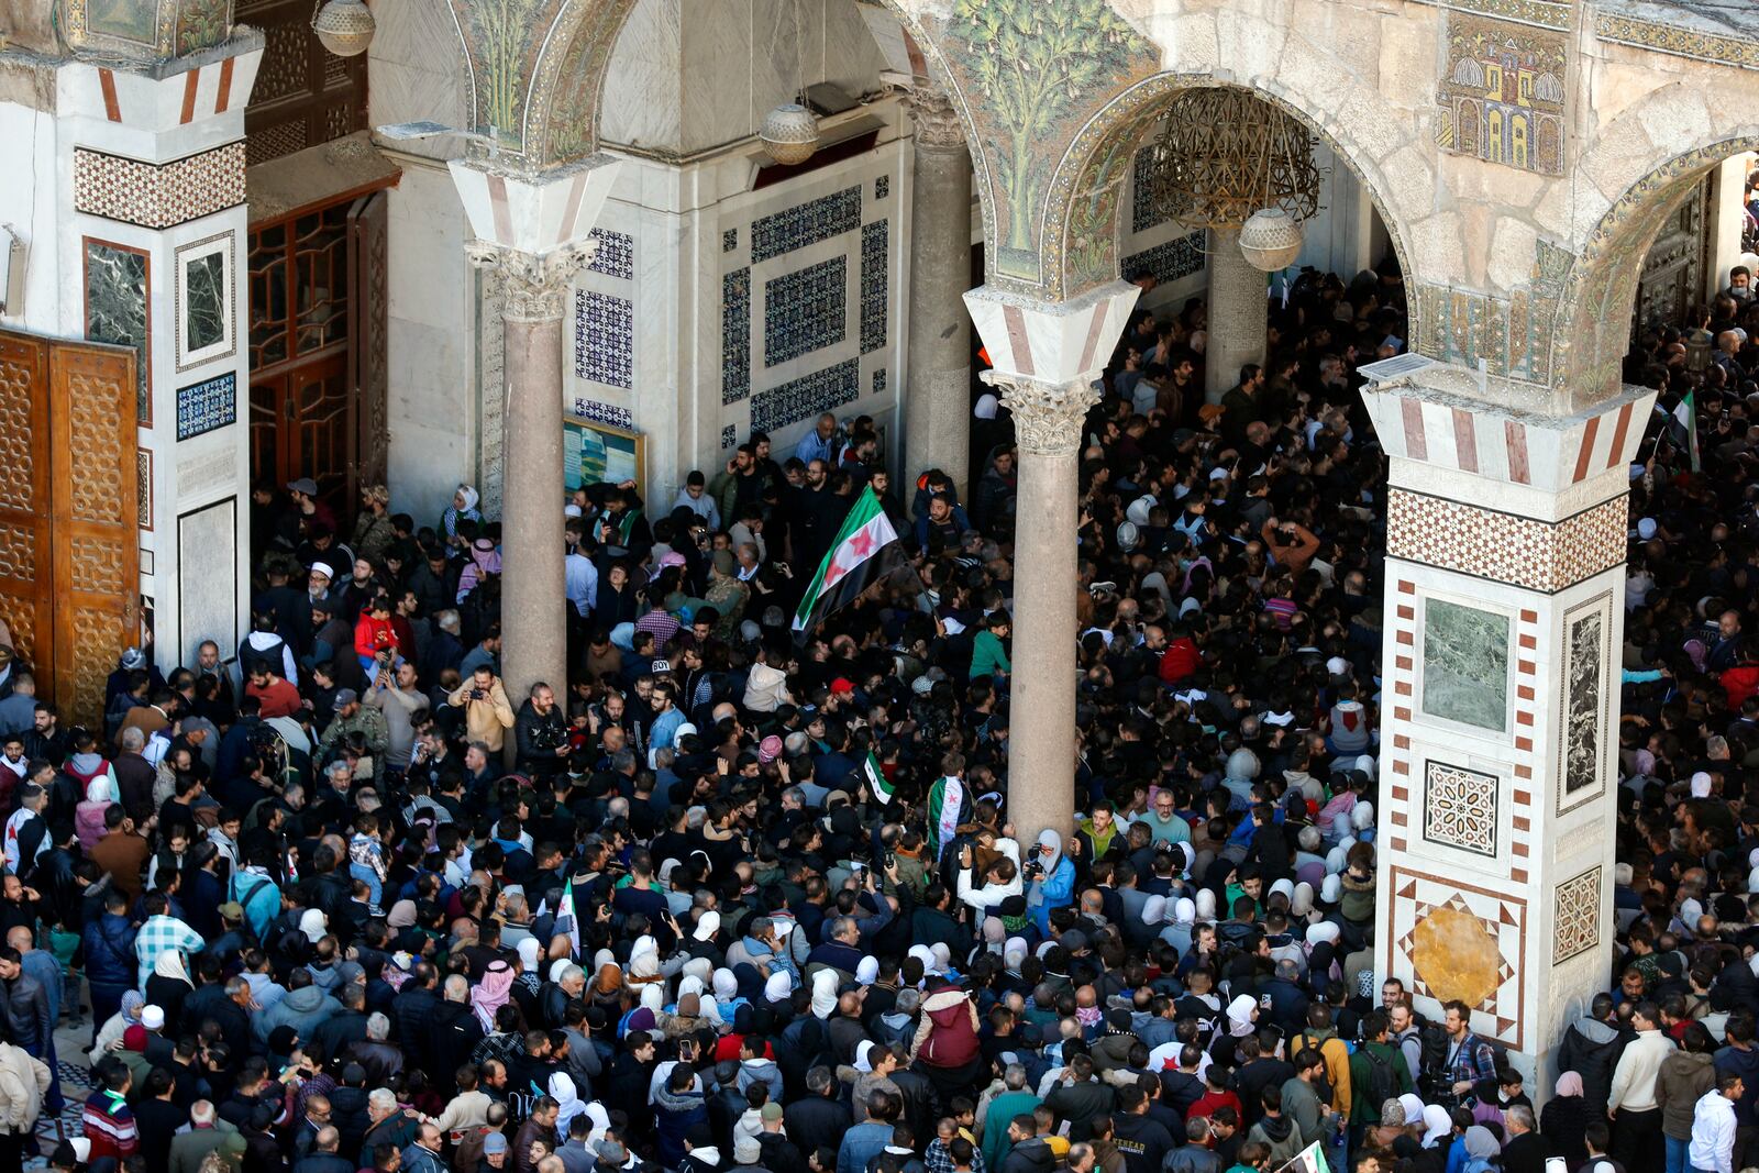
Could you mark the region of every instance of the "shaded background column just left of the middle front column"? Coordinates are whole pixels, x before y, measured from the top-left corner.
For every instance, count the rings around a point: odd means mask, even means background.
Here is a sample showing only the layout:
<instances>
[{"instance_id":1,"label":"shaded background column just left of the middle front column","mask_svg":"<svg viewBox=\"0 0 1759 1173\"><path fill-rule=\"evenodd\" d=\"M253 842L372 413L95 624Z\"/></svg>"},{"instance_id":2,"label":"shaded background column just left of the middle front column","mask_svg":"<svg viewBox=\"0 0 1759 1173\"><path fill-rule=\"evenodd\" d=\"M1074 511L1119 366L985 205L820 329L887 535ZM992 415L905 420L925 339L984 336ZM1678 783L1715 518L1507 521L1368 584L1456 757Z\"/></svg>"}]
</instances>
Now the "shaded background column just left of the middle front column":
<instances>
[{"instance_id":1,"label":"shaded background column just left of the middle front column","mask_svg":"<svg viewBox=\"0 0 1759 1173\"><path fill-rule=\"evenodd\" d=\"M904 471L939 468L969 491L971 155L946 93L909 93L915 179L909 216L909 368L904 380Z\"/></svg>"}]
</instances>

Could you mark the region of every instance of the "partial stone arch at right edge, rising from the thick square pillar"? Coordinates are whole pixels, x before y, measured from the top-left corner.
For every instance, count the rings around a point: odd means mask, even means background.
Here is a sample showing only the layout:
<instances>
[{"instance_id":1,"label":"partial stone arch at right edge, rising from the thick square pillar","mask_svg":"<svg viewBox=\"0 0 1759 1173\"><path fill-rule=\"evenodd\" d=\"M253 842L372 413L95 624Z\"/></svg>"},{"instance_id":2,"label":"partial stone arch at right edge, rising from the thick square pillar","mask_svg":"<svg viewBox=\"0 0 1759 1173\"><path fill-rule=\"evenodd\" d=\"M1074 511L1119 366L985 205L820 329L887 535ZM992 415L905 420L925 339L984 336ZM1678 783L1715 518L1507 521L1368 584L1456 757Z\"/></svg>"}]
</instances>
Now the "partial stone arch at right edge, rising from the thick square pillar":
<instances>
[{"instance_id":1,"label":"partial stone arch at right edge, rising from the thick square pillar","mask_svg":"<svg viewBox=\"0 0 1759 1173\"><path fill-rule=\"evenodd\" d=\"M1578 408L1618 389L1643 259L1668 216L1712 167L1759 151L1755 123L1710 130L1708 139L1683 151L1673 135L1652 137L1648 111L1680 93L1683 86L1673 84L1643 98L1581 160L1581 174L1595 186L1576 192L1578 200L1592 200L1588 208L1578 204L1576 223L1590 227L1562 281L1551 338L1551 383ZM1641 135L1639 149L1632 149L1632 135Z\"/></svg>"}]
</instances>

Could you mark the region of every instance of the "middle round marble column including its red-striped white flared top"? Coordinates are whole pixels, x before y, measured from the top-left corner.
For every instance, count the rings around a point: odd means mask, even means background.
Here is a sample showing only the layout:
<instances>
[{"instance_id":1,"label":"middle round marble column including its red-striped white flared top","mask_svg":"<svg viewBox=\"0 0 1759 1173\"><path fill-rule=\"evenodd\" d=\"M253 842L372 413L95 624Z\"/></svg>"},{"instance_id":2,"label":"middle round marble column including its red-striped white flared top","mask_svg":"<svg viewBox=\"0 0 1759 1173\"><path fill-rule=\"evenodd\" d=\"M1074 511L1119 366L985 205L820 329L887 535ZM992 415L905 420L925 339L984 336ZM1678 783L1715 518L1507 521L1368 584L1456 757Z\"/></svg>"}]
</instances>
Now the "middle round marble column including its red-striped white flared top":
<instances>
[{"instance_id":1,"label":"middle round marble column including its red-striped white flared top","mask_svg":"<svg viewBox=\"0 0 1759 1173\"><path fill-rule=\"evenodd\" d=\"M1015 522L1008 818L1020 841L1069 832L1075 795L1075 568L1082 422L1140 288L1112 281L1062 302L966 294L1020 445Z\"/></svg>"}]
</instances>

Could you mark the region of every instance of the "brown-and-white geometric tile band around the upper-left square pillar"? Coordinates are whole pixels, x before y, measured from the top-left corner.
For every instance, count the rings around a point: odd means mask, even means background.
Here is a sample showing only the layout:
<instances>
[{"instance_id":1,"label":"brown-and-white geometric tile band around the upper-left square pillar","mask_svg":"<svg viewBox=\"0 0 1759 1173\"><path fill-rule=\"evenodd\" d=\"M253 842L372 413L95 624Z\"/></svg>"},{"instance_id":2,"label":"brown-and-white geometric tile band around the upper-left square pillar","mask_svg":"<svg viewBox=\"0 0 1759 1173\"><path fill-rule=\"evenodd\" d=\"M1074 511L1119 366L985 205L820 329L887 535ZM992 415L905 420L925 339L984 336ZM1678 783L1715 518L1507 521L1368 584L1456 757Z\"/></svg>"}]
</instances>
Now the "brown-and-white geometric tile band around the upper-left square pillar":
<instances>
[{"instance_id":1,"label":"brown-and-white geometric tile band around the upper-left square pillar","mask_svg":"<svg viewBox=\"0 0 1759 1173\"><path fill-rule=\"evenodd\" d=\"M169 229L245 202L245 142L171 164L74 149L74 209L142 229Z\"/></svg>"}]
</instances>

